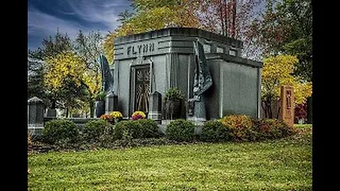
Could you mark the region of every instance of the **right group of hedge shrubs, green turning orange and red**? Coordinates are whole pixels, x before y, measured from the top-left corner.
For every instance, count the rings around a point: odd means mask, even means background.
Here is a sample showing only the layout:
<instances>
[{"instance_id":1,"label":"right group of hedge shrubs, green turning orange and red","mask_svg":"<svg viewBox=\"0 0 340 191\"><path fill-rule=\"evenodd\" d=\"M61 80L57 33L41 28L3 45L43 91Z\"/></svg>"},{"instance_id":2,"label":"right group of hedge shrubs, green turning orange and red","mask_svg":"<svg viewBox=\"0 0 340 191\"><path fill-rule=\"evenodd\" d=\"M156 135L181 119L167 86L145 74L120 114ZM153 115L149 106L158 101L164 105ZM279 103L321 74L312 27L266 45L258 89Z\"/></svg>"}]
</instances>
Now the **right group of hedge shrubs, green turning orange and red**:
<instances>
[{"instance_id":1,"label":"right group of hedge shrubs, green turning orange and red","mask_svg":"<svg viewBox=\"0 0 340 191\"><path fill-rule=\"evenodd\" d=\"M175 120L166 128L166 137L176 141L194 141L192 122ZM276 119L257 120L246 115L228 115L220 120L205 122L200 141L260 141L279 139L294 134L293 127Z\"/></svg>"}]
</instances>

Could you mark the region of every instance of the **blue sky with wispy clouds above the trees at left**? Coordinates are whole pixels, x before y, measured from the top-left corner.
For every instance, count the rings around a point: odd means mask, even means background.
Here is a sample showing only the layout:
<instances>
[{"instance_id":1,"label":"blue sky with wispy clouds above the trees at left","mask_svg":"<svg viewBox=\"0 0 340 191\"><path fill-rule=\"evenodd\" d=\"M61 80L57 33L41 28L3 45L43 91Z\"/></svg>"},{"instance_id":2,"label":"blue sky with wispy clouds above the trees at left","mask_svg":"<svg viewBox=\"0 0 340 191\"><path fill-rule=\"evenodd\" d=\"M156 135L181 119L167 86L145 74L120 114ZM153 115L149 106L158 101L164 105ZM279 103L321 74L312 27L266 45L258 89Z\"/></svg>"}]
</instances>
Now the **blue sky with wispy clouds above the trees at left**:
<instances>
[{"instance_id":1,"label":"blue sky with wispy clouds above the trees at left","mask_svg":"<svg viewBox=\"0 0 340 191\"><path fill-rule=\"evenodd\" d=\"M40 47L57 29L71 38L79 30L106 35L118 27L118 13L125 9L132 10L128 0L28 0L28 49Z\"/></svg>"}]
</instances>

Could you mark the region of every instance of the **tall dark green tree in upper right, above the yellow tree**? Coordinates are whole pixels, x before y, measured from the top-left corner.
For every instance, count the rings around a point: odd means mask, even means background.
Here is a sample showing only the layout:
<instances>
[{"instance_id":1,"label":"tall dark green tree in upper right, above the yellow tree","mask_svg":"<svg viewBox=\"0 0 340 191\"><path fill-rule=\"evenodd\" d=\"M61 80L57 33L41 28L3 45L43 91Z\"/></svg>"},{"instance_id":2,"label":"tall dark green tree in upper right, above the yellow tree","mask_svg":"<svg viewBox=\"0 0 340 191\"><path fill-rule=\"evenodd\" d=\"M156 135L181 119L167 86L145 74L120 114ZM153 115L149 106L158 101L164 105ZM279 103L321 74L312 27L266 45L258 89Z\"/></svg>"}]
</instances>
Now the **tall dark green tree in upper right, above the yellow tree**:
<instances>
[{"instance_id":1,"label":"tall dark green tree in upper right, above the yellow tree","mask_svg":"<svg viewBox=\"0 0 340 191\"><path fill-rule=\"evenodd\" d=\"M310 0L266 0L266 12L254 20L249 38L269 55L295 55L294 75L312 81L312 3Z\"/></svg>"}]
</instances>

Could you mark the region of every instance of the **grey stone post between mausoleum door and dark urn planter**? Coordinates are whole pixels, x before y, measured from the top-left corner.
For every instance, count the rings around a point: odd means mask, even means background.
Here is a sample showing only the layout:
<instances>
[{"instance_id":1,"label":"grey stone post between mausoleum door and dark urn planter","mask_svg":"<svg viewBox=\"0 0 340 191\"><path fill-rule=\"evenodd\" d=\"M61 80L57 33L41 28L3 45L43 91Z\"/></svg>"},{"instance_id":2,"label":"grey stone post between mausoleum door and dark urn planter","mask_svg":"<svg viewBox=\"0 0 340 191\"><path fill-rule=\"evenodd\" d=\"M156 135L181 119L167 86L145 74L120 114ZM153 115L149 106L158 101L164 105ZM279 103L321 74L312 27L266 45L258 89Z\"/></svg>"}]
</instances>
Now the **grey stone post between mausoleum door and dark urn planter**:
<instances>
[{"instance_id":1,"label":"grey stone post between mausoleum door and dark urn planter","mask_svg":"<svg viewBox=\"0 0 340 191\"><path fill-rule=\"evenodd\" d=\"M149 114L147 118L152 120L162 120L162 94L154 91L149 96Z\"/></svg>"}]
</instances>

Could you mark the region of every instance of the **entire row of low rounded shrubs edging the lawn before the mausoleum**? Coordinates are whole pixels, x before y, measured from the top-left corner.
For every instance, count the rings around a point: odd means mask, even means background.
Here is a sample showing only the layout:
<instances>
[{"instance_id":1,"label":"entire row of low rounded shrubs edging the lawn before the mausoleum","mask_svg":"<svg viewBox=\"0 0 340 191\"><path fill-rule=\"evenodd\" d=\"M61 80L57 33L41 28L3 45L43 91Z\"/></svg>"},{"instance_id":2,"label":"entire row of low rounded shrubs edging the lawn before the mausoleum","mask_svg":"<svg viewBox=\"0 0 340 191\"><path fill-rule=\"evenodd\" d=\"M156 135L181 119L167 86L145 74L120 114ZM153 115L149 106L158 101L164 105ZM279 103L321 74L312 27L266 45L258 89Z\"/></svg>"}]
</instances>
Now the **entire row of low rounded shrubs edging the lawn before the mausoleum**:
<instances>
[{"instance_id":1,"label":"entire row of low rounded shrubs edging the lawn before the mausoleum","mask_svg":"<svg viewBox=\"0 0 340 191\"><path fill-rule=\"evenodd\" d=\"M195 136L195 125L186 120L175 120L166 127L166 138L174 141L258 141L278 139L294 133L280 120L256 120L246 115L228 115L220 120L210 120L202 127L200 137ZM111 125L106 120L87 122L83 132L68 120L46 122L42 139L49 144L74 143L83 140L89 143L110 143L118 139L159 138L162 133L153 120L121 121Z\"/></svg>"}]
</instances>

